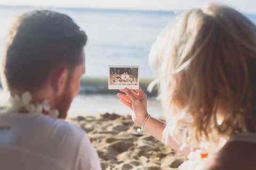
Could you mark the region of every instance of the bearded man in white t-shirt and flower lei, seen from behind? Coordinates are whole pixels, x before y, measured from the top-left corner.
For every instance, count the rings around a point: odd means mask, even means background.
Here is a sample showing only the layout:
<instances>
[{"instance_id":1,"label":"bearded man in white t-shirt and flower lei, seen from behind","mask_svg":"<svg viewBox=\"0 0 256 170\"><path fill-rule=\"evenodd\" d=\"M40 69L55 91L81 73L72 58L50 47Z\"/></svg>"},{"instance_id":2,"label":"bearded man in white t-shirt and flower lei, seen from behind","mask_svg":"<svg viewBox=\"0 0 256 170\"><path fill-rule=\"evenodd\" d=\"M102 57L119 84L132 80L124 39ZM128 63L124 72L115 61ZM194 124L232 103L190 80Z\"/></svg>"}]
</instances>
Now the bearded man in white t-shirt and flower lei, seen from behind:
<instances>
[{"instance_id":1,"label":"bearded man in white t-shirt and flower lei, seen from behind","mask_svg":"<svg viewBox=\"0 0 256 170\"><path fill-rule=\"evenodd\" d=\"M69 16L25 13L5 40L0 169L101 169L87 134L62 119L85 73L86 34Z\"/></svg>"}]
</instances>

